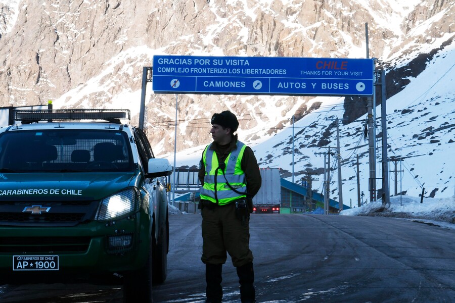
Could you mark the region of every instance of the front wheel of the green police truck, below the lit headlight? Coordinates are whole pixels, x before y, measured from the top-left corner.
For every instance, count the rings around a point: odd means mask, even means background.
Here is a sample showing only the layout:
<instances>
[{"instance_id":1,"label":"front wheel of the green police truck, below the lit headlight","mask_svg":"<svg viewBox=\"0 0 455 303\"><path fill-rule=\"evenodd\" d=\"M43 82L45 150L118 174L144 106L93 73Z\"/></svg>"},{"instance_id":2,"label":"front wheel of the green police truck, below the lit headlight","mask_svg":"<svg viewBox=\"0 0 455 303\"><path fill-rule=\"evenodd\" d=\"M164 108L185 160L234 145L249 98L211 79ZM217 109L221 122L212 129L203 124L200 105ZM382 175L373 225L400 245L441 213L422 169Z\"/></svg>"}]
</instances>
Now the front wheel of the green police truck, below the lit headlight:
<instances>
[{"instance_id":1,"label":"front wheel of the green police truck, below the lit headlight","mask_svg":"<svg viewBox=\"0 0 455 303\"><path fill-rule=\"evenodd\" d=\"M130 302L153 303L152 249L143 268L125 273L123 276L123 303Z\"/></svg>"}]
</instances>

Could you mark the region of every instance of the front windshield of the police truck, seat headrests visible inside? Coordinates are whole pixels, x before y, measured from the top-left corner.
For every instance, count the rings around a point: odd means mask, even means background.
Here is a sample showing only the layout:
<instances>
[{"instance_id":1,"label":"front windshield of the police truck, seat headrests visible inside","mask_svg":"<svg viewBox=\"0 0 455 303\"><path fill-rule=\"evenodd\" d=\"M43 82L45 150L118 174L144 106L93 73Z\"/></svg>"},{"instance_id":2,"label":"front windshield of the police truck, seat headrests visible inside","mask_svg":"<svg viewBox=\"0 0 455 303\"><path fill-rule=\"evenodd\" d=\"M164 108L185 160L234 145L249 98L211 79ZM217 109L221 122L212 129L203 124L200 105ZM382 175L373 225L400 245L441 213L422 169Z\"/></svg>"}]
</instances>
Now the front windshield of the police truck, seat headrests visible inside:
<instances>
[{"instance_id":1,"label":"front windshield of the police truck, seat headrests visible inside","mask_svg":"<svg viewBox=\"0 0 455 303\"><path fill-rule=\"evenodd\" d=\"M0 136L0 172L134 170L126 133L118 130L21 130Z\"/></svg>"}]
</instances>

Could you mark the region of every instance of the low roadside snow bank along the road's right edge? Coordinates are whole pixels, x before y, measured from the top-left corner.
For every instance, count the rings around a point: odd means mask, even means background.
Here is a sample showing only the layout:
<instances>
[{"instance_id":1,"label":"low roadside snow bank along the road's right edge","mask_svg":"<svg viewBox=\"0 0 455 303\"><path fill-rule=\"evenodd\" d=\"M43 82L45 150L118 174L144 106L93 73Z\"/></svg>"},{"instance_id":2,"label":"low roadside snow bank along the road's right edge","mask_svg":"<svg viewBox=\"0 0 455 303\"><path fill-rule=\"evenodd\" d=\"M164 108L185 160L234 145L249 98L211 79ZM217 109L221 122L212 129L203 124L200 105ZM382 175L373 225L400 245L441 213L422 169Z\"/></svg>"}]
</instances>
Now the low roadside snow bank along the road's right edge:
<instances>
[{"instance_id":1,"label":"low roadside snow bank along the road's right edge","mask_svg":"<svg viewBox=\"0 0 455 303\"><path fill-rule=\"evenodd\" d=\"M447 198L424 198L395 196L390 204L382 208L382 200L368 203L358 208L344 210L344 216L382 216L404 219L424 219L452 223L455 227L455 196Z\"/></svg>"}]
</instances>

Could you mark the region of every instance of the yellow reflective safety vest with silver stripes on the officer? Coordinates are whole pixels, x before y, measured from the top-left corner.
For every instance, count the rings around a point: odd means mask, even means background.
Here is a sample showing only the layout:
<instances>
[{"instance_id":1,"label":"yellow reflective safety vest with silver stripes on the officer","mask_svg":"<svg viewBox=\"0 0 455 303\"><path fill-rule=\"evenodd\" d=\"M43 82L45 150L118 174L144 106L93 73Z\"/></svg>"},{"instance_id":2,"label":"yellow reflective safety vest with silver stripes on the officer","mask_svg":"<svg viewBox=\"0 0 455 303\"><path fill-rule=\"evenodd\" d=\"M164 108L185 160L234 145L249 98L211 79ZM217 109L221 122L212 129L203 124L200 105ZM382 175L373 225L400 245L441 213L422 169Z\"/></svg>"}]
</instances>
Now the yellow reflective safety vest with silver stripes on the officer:
<instances>
[{"instance_id":1,"label":"yellow reflective safety vest with silver stripes on the officer","mask_svg":"<svg viewBox=\"0 0 455 303\"><path fill-rule=\"evenodd\" d=\"M247 188L245 183L245 172L240 167L246 145L237 141L237 147L224 161L224 175L219 168L218 157L209 144L205 147L202 160L205 166L204 185L202 186L201 199L209 200L218 205L226 205L237 199L246 197ZM232 190L237 190L237 193Z\"/></svg>"}]
</instances>

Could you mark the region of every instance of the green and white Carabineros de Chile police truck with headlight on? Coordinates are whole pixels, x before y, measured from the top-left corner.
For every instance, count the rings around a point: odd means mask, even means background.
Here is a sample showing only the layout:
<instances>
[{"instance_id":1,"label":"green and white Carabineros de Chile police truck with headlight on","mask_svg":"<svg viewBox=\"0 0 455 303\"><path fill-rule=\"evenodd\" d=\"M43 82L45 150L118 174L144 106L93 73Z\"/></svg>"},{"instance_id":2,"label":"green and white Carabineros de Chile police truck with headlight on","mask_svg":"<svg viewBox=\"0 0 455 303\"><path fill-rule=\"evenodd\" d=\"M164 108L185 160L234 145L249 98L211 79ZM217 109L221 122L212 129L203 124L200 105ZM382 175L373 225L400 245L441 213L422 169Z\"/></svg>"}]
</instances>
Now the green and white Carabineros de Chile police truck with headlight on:
<instances>
[{"instance_id":1,"label":"green and white Carabineros de Chile police truck with headlight on","mask_svg":"<svg viewBox=\"0 0 455 303\"><path fill-rule=\"evenodd\" d=\"M25 110L0 130L0 284L116 274L125 301L152 301L172 167L121 119L129 111Z\"/></svg>"}]
</instances>

